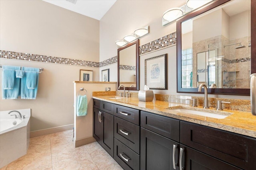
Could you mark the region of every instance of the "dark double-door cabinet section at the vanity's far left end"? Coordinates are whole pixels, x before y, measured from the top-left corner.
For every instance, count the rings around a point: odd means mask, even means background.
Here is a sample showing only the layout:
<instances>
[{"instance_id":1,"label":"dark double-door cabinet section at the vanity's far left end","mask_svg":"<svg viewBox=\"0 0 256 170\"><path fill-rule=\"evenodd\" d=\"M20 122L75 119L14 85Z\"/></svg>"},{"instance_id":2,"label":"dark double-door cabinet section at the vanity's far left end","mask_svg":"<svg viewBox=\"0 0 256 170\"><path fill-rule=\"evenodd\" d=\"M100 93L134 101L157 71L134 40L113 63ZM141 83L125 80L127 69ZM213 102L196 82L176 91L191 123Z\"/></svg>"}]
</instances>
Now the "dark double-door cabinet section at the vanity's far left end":
<instances>
[{"instance_id":1,"label":"dark double-door cabinet section at the vanity's far left end","mask_svg":"<svg viewBox=\"0 0 256 170\"><path fill-rule=\"evenodd\" d=\"M94 99L94 103L98 104L98 101ZM114 108L114 104L105 103L105 106L111 107L111 105ZM101 106L102 104L100 104L100 108ZM93 137L114 157L114 115L112 114L106 113L96 107L93 108Z\"/></svg>"}]
</instances>

